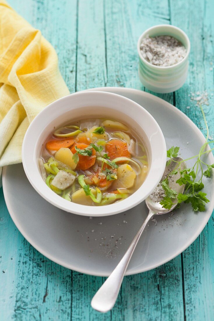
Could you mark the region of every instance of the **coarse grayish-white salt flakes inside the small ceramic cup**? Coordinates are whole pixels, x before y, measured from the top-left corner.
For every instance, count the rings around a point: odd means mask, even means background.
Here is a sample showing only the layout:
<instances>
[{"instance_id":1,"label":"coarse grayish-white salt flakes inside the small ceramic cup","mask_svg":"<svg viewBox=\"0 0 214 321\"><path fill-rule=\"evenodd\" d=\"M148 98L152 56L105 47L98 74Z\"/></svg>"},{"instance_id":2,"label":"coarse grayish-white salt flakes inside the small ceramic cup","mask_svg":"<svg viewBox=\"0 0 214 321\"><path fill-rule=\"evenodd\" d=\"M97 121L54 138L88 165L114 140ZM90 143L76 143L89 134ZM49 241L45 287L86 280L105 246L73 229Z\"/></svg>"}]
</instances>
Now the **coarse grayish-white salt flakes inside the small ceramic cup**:
<instances>
[{"instance_id":1,"label":"coarse grayish-white salt flakes inside the small ceramic cup","mask_svg":"<svg viewBox=\"0 0 214 321\"><path fill-rule=\"evenodd\" d=\"M182 43L171 36L143 38L140 49L150 64L162 67L175 65L186 55Z\"/></svg>"}]
</instances>

